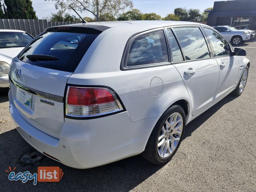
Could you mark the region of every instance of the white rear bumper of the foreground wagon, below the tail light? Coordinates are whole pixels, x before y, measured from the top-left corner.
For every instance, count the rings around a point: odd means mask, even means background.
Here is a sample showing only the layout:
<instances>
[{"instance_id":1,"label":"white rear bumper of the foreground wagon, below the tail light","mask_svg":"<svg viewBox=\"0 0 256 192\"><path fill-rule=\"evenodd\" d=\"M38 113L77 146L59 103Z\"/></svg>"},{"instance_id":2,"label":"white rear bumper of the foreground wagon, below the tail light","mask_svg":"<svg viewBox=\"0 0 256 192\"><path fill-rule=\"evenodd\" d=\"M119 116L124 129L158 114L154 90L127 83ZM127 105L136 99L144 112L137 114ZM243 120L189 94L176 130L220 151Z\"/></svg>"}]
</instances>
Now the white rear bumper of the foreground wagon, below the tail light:
<instances>
[{"instance_id":1,"label":"white rear bumper of the foreground wagon, below the tail light","mask_svg":"<svg viewBox=\"0 0 256 192\"><path fill-rule=\"evenodd\" d=\"M73 168L92 168L140 154L157 120L149 118L132 122L127 112L92 120L65 118L58 139L38 130L20 116L11 90L9 100L10 114L24 140L39 152Z\"/></svg>"}]
</instances>

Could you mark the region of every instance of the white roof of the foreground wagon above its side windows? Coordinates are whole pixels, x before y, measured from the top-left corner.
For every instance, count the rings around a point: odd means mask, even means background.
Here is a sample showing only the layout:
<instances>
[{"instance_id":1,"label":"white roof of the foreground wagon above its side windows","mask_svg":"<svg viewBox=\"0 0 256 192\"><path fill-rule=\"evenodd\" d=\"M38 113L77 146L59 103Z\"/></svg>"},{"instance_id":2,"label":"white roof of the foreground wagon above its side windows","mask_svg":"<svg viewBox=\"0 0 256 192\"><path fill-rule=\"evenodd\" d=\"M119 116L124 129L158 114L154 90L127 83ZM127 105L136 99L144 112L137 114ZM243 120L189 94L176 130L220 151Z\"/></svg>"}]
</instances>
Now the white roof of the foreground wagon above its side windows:
<instances>
[{"instance_id":1,"label":"white roof of the foreground wagon above its side windows","mask_svg":"<svg viewBox=\"0 0 256 192\"><path fill-rule=\"evenodd\" d=\"M175 26L175 25L202 25L205 24L196 23L196 22L185 22L185 21L107 21L107 22L90 22L90 23L79 23L79 24L70 24L64 25L65 27L85 27L85 28L94 28L104 31L108 28L122 28L127 26L127 28L137 28L138 30L146 30L150 28L158 28L165 26ZM62 26L62 27L64 27ZM54 28L54 27L52 27Z\"/></svg>"}]
</instances>

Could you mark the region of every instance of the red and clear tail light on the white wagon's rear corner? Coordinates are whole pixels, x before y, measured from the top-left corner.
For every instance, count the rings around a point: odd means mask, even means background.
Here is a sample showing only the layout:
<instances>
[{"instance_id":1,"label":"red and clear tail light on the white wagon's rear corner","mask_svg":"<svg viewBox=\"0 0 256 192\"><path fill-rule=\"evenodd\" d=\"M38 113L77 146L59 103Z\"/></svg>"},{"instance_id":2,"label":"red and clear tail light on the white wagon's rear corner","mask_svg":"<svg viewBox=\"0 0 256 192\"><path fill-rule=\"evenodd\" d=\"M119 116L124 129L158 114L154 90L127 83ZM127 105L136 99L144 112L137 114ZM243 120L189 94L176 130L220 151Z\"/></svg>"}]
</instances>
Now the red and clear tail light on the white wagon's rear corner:
<instances>
[{"instance_id":1,"label":"red and clear tail light on the white wagon's rear corner","mask_svg":"<svg viewBox=\"0 0 256 192\"><path fill-rule=\"evenodd\" d=\"M90 118L121 110L116 94L108 88L68 86L66 116Z\"/></svg>"}]
</instances>

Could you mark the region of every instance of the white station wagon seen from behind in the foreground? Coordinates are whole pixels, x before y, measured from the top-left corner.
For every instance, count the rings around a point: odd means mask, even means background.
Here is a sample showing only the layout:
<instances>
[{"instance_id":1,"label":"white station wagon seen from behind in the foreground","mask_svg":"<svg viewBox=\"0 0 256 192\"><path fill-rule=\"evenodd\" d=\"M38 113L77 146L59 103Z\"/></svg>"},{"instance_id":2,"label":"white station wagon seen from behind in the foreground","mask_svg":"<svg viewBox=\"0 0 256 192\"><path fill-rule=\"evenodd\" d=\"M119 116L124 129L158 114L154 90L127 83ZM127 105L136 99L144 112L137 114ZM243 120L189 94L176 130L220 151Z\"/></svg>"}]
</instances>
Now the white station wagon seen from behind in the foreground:
<instances>
[{"instance_id":1,"label":"white station wagon seen from behind in the foreground","mask_svg":"<svg viewBox=\"0 0 256 192\"><path fill-rule=\"evenodd\" d=\"M185 125L233 92L250 61L213 28L128 21L46 29L10 66L10 114L36 150L74 168L177 151Z\"/></svg>"}]
</instances>

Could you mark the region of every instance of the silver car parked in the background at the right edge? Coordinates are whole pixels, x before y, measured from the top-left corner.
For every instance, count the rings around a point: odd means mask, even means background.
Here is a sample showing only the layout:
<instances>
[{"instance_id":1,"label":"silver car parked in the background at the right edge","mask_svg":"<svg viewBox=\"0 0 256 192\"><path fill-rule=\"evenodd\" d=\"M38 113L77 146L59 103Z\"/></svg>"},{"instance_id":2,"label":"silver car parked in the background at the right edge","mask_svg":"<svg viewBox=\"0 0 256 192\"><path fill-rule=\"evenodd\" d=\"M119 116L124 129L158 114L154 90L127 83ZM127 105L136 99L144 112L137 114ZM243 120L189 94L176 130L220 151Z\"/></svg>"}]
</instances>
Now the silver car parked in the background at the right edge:
<instances>
[{"instance_id":1,"label":"silver car parked in the background at the right edge","mask_svg":"<svg viewBox=\"0 0 256 192\"><path fill-rule=\"evenodd\" d=\"M213 28L220 32L233 45L239 45L255 37L255 31L252 30L238 30L232 26L214 26Z\"/></svg>"}]
</instances>

